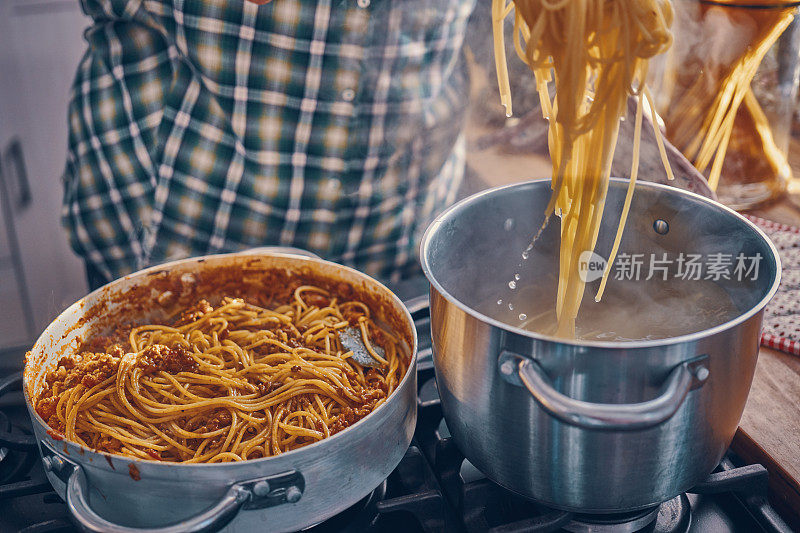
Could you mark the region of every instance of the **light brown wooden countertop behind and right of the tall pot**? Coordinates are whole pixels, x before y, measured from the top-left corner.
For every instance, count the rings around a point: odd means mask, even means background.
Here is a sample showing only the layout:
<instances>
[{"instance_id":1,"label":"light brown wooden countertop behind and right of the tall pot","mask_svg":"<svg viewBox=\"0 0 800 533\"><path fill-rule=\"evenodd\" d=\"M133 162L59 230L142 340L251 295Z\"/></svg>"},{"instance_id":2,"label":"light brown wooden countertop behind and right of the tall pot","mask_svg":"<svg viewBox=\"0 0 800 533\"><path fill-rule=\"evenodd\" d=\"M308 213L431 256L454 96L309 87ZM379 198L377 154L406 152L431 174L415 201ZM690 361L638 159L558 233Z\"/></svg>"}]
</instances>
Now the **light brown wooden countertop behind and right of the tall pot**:
<instances>
[{"instance_id":1,"label":"light brown wooden countertop behind and right of the tall pot","mask_svg":"<svg viewBox=\"0 0 800 533\"><path fill-rule=\"evenodd\" d=\"M474 141L485 130L468 121L467 190L548 176L549 159L535 154L512 155L495 149L478 150ZM800 144L790 157L800 176ZM796 160L792 160L796 159ZM800 226L800 201L785 198L750 214ZM761 348L753 385L732 445L748 462L769 471L770 500L778 512L800 531L800 357Z\"/></svg>"}]
</instances>

